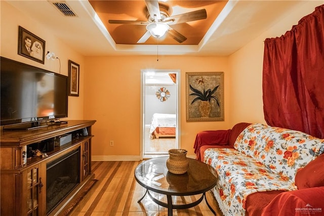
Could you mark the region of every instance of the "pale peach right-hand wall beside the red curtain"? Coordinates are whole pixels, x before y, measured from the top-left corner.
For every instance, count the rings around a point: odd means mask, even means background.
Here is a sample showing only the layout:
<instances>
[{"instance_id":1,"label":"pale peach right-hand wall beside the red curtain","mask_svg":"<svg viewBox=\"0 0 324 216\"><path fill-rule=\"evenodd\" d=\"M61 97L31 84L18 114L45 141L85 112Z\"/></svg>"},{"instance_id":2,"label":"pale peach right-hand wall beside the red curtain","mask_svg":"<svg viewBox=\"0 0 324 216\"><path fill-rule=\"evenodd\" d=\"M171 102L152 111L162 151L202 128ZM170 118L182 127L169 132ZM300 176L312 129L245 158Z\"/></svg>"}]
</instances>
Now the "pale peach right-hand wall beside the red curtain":
<instances>
[{"instance_id":1,"label":"pale peach right-hand wall beside the red curtain","mask_svg":"<svg viewBox=\"0 0 324 216\"><path fill-rule=\"evenodd\" d=\"M230 80L232 86L230 104L232 105L229 112L232 125L242 121L266 124L262 99L264 40L285 34L320 4L323 4L323 1L305 1L302 5L292 8L290 13L281 18L277 24L229 57L232 75Z\"/></svg>"}]
</instances>

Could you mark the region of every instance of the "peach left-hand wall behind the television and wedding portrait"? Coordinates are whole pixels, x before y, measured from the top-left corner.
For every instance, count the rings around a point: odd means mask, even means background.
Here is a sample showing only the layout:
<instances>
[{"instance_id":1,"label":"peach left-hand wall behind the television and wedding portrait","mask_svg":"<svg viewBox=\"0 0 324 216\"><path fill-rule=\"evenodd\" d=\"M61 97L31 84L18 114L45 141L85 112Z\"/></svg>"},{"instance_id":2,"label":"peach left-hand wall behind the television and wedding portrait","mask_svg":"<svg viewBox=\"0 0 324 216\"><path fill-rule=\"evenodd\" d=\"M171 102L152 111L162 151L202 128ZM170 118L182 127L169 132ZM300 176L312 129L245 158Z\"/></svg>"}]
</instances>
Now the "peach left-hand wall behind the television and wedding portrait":
<instances>
[{"instance_id":1,"label":"peach left-hand wall behind the television and wedding portrait","mask_svg":"<svg viewBox=\"0 0 324 216\"><path fill-rule=\"evenodd\" d=\"M33 65L35 67L44 68L58 74L68 75L68 60L72 60L80 65L80 89L79 97L71 97L68 99L68 119L83 119L84 110L84 56L73 51L68 45L62 43L54 36L50 29L37 21L24 16L22 12L15 9L6 2L1 1L1 51L0 55L16 61ZM13 15L14 14L14 15ZM38 63L31 59L25 58L17 54L18 50L18 26L22 26L37 37L46 42L45 53L47 51L54 52L56 60L48 60L45 58L45 64ZM61 63L61 67L60 67Z\"/></svg>"}]
</instances>

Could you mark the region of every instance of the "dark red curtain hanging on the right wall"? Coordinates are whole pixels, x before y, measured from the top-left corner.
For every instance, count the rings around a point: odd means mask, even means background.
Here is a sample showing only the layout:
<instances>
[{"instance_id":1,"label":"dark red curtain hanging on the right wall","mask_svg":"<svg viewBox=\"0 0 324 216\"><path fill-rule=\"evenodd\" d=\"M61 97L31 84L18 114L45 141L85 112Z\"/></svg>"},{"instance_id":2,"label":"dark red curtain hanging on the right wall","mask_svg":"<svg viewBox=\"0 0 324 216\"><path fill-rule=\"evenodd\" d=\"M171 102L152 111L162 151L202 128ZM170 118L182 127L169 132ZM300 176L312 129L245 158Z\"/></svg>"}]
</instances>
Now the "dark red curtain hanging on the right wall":
<instances>
[{"instance_id":1,"label":"dark red curtain hanging on the right wall","mask_svg":"<svg viewBox=\"0 0 324 216\"><path fill-rule=\"evenodd\" d=\"M263 105L269 125L324 138L324 5L265 40Z\"/></svg>"}]
</instances>

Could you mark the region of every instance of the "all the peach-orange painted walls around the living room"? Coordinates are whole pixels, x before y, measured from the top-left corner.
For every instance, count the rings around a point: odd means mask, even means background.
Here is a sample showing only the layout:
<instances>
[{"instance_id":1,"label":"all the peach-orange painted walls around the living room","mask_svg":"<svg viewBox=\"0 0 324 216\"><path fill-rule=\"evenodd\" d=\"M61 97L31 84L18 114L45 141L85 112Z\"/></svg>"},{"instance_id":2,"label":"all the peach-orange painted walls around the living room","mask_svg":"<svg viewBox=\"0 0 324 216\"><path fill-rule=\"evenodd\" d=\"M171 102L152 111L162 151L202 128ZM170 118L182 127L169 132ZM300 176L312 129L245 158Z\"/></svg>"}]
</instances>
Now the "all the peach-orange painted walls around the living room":
<instances>
[{"instance_id":1,"label":"all the peach-orange painted walls around the living room","mask_svg":"<svg viewBox=\"0 0 324 216\"><path fill-rule=\"evenodd\" d=\"M180 69L181 148L193 155L193 141L201 130L228 129L235 123L264 123L262 103L263 41L277 37L303 16L311 13L319 1L305 4L287 14L278 24L264 32L229 57L123 56L85 57L73 51L54 33L23 15L8 3L1 4L1 56L36 67L68 74L68 59L80 64L80 96L69 97L68 119L95 119L94 158L135 156L140 154L140 70ZM15 14L15 16L12 16ZM45 64L17 54L18 26L26 28L46 41L46 51L55 52L61 60L45 60ZM224 71L225 121L186 122L186 72ZM109 146L114 140L114 147Z\"/></svg>"}]
</instances>

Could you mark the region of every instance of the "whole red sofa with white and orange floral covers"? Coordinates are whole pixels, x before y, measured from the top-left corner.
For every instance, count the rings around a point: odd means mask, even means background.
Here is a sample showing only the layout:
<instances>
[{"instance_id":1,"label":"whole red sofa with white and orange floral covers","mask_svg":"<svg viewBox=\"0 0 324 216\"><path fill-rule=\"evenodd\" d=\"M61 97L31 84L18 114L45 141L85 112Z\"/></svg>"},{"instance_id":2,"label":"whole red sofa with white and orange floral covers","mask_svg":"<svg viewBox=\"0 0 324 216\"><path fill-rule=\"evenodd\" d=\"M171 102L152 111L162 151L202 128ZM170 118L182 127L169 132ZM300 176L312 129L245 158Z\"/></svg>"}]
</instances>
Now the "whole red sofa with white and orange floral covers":
<instances>
[{"instance_id":1,"label":"whole red sofa with white and orange floral covers","mask_svg":"<svg viewBox=\"0 0 324 216\"><path fill-rule=\"evenodd\" d=\"M239 123L198 133L194 148L219 174L214 195L224 215L324 214L324 139ZM317 211L297 211L309 206Z\"/></svg>"}]
</instances>

